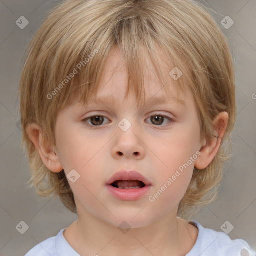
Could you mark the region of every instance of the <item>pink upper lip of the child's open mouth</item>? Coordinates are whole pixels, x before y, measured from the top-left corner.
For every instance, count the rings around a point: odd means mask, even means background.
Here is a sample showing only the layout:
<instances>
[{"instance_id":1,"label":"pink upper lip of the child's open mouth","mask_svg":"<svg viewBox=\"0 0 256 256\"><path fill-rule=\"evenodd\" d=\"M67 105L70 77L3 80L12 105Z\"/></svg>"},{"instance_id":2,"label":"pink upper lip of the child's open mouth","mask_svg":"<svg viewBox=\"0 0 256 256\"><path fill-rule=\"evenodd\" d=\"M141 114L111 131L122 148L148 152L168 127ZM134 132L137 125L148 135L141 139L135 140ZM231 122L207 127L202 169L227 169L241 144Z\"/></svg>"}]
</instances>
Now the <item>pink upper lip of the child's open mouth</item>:
<instances>
[{"instance_id":1,"label":"pink upper lip of the child's open mouth","mask_svg":"<svg viewBox=\"0 0 256 256\"><path fill-rule=\"evenodd\" d=\"M107 181L107 184L110 185L116 180L139 180L145 185L151 185L151 182L147 178L135 170L120 170L113 174L113 176Z\"/></svg>"}]
</instances>

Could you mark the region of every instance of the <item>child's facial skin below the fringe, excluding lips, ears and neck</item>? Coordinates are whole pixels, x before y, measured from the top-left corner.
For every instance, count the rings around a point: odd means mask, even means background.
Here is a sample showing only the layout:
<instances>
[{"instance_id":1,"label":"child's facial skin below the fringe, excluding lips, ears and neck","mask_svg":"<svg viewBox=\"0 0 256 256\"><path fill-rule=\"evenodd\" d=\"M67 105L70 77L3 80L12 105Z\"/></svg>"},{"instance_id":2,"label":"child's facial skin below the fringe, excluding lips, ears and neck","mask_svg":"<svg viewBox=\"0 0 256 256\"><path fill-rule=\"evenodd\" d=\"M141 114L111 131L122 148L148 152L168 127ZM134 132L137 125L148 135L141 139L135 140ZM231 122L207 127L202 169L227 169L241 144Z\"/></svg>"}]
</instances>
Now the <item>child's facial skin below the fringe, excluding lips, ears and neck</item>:
<instances>
[{"instance_id":1,"label":"child's facial skin below the fringe, excluding lips, ears and neck","mask_svg":"<svg viewBox=\"0 0 256 256\"><path fill-rule=\"evenodd\" d=\"M127 76L125 65L119 60L119 51L112 51L101 77L97 102L91 99L85 109L76 101L59 112L55 126L56 149L66 175L72 169L80 175L74 183L68 180L79 217L93 215L115 226L126 221L139 227L167 213L176 217L178 204L193 173L196 152L201 148L200 125L189 90L186 95L180 94L185 105L169 98L166 103L146 104L146 100L137 106L132 94L124 98ZM146 99L166 96L152 65L149 61L147 64ZM176 96L177 83L169 71L162 66L165 87ZM111 100L102 103L99 99L103 97ZM102 117L83 121L93 115ZM157 116L150 119L154 115L165 115L173 121L166 117L161 121ZM120 128L123 118L131 124L126 131ZM182 167L179 168L182 164L186 164L183 172ZM107 181L120 170L136 170L151 185L138 198L117 198L109 192ZM154 196L157 190L161 190L158 197Z\"/></svg>"}]
</instances>

